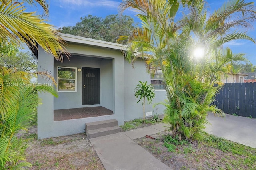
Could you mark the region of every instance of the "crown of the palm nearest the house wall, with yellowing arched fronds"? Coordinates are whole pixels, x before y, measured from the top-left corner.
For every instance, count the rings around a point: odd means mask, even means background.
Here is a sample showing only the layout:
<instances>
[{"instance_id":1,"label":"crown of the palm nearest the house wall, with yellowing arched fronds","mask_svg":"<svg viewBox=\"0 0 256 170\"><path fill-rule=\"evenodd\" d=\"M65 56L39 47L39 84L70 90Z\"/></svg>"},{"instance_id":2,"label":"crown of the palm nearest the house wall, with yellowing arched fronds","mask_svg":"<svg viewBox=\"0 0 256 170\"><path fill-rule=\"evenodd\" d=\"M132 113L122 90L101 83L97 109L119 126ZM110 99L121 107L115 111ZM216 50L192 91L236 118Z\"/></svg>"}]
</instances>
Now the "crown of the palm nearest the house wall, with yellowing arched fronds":
<instances>
[{"instance_id":1,"label":"crown of the palm nearest the house wall, with yellowing arched fronds","mask_svg":"<svg viewBox=\"0 0 256 170\"><path fill-rule=\"evenodd\" d=\"M174 4L177 6L178 4ZM142 28L135 28L130 36L120 36L118 41L128 40L129 49L124 50L124 55L132 65L139 57L146 57L149 69L160 68L164 79L164 64L170 42L178 36L179 24L174 23L175 9L171 8L168 1L156 0L123 0L120 4L120 12L127 8L138 10L138 18L142 21ZM172 11L172 16L170 16ZM134 51L140 54L134 54ZM172 61L171 61L172 62ZM173 77L175 81L175 77ZM170 88L166 87L168 98Z\"/></svg>"}]
</instances>

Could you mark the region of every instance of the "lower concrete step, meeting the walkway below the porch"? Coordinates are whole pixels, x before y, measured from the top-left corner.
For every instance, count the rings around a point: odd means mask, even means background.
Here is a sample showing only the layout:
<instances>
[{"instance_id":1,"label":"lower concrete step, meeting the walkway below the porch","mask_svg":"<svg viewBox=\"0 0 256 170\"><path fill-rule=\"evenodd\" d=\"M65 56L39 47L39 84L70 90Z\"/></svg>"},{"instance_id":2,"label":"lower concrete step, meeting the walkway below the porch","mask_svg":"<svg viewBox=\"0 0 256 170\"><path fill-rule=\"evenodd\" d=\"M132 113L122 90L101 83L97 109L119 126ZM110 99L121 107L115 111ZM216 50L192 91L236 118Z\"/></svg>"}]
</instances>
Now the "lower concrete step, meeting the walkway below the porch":
<instances>
[{"instance_id":1,"label":"lower concrete step, meeting the walkway below the porch","mask_svg":"<svg viewBox=\"0 0 256 170\"><path fill-rule=\"evenodd\" d=\"M106 128L98 128L94 130L86 131L87 138L96 138L100 136L106 136L109 134L119 133L121 132L121 128L119 126L106 127Z\"/></svg>"}]
</instances>

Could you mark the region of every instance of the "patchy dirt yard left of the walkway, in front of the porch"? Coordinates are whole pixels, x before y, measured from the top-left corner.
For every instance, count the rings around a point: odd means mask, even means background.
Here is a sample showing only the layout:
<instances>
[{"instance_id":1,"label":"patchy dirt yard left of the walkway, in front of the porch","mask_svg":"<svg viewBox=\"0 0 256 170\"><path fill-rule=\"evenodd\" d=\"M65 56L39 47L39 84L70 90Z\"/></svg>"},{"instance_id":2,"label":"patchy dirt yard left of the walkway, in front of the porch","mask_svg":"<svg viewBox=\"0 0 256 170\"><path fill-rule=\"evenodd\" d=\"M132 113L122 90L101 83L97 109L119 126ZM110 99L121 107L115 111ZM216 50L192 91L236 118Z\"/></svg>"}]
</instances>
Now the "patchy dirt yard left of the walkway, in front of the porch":
<instances>
[{"instance_id":1,"label":"patchy dirt yard left of the walkway, in front of the porch","mask_svg":"<svg viewBox=\"0 0 256 170\"><path fill-rule=\"evenodd\" d=\"M34 128L23 136L29 140L26 158L31 170L104 170L86 134L37 140Z\"/></svg>"}]
</instances>

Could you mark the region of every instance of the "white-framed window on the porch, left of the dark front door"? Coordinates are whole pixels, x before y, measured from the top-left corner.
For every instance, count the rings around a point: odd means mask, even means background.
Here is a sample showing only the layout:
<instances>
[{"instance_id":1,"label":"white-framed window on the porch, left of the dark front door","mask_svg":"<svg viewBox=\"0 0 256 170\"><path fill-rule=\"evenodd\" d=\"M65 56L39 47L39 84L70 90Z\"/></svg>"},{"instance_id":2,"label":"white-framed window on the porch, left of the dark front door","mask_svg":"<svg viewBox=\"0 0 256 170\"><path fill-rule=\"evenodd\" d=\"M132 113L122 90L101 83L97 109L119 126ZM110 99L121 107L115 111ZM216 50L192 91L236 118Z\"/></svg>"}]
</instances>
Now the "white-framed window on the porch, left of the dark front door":
<instances>
[{"instance_id":1,"label":"white-framed window on the porch, left of the dark front door","mask_svg":"<svg viewBox=\"0 0 256 170\"><path fill-rule=\"evenodd\" d=\"M57 83L58 92L76 92L77 68L58 66Z\"/></svg>"}]
</instances>

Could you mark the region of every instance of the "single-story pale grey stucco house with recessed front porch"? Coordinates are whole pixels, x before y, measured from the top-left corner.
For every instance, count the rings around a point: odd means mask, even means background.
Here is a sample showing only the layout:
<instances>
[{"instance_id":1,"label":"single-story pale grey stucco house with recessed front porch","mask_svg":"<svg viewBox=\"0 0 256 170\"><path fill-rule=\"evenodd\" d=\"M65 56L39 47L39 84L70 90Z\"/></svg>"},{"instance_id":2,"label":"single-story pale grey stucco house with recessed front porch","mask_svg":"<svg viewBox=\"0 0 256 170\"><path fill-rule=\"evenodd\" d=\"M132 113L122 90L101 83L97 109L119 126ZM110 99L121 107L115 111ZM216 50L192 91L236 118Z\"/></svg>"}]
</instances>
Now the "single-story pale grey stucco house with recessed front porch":
<instances>
[{"instance_id":1,"label":"single-story pale grey stucco house with recessed front porch","mask_svg":"<svg viewBox=\"0 0 256 170\"><path fill-rule=\"evenodd\" d=\"M145 112L164 113L164 106L154 103L166 99L161 71L154 77L146 71L140 59L135 68L122 54L122 45L60 34L67 42L70 59L61 63L40 46L36 51L38 71L47 71L56 79L59 97L39 93L42 105L38 107L38 138L49 138L85 132L85 123L116 119L124 121L143 117L142 104L137 103L134 89L138 81L154 84L155 95ZM51 83L38 76L38 83Z\"/></svg>"}]
</instances>

